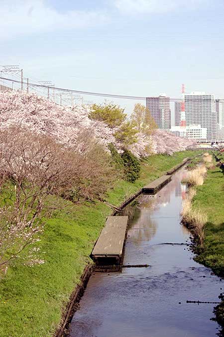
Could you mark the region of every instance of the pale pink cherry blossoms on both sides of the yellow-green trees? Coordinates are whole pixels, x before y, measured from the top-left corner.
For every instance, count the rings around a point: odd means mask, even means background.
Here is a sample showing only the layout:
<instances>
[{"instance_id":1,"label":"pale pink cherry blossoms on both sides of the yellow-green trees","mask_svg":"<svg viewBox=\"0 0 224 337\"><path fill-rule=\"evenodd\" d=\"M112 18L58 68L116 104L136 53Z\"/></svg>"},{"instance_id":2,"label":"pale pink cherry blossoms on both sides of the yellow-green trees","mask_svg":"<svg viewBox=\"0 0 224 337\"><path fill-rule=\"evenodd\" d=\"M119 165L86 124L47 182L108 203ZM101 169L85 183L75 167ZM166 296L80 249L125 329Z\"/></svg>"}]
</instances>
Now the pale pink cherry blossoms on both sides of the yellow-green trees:
<instances>
[{"instance_id":1,"label":"pale pink cherry blossoms on both sides of the yellow-green trees","mask_svg":"<svg viewBox=\"0 0 224 337\"><path fill-rule=\"evenodd\" d=\"M89 118L90 107L76 105L62 107L36 94L21 91L0 93L0 130L10 126L21 126L29 131L46 134L58 142L75 146L82 151L80 133L87 131L105 148L113 143L119 150L122 144L116 144L114 130L105 123ZM152 136L137 135L137 142L129 147L136 157L144 157L149 152L172 154L185 150L194 142L175 136L164 130L156 130Z\"/></svg>"}]
</instances>

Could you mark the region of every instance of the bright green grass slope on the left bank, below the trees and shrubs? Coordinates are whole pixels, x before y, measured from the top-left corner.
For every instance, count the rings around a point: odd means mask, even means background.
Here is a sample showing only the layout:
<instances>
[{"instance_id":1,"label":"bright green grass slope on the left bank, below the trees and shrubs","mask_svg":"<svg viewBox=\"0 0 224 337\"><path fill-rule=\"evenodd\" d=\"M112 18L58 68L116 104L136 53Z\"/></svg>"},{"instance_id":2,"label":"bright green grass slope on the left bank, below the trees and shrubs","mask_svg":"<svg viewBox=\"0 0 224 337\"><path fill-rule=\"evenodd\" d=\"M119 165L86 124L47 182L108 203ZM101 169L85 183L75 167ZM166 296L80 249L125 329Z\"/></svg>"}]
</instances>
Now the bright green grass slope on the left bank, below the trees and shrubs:
<instances>
[{"instance_id":1,"label":"bright green grass slope on the left bank, below the trees and shrubs","mask_svg":"<svg viewBox=\"0 0 224 337\"><path fill-rule=\"evenodd\" d=\"M108 201L121 204L166 170L195 152L151 156L142 163L141 177L133 184L118 181ZM62 310L90 261L89 255L111 208L103 203L74 206L70 214L58 212L47 220L39 243L45 264L15 264L0 281L0 337L52 337Z\"/></svg>"}]
</instances>

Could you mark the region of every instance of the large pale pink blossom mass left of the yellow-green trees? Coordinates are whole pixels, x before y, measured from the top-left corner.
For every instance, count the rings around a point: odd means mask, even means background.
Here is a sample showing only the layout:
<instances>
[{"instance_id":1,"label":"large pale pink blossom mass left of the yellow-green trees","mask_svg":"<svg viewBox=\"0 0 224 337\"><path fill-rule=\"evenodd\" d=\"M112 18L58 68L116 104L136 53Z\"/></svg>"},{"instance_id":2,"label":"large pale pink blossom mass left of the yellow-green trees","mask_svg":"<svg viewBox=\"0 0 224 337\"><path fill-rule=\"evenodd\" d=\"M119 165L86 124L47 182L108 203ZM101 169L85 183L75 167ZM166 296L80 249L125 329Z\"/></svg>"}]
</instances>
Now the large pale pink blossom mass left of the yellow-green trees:
<instances>
[{"instance_id":1,"label":"large pale pink blossom mass left of the yellow-green trees","mask_svg":"<svg viewBox=\"0 0 224 337\"><path fill-rule=\"evenodd\" d=\"M79 147L80 132L89 131L102 145L114 143L112 130L102 122L91 120L89 113L90 108L85 105L62 107L36 94L0 93L1 130L17 125L76 147Z\"/></svg>"}]
</instances>

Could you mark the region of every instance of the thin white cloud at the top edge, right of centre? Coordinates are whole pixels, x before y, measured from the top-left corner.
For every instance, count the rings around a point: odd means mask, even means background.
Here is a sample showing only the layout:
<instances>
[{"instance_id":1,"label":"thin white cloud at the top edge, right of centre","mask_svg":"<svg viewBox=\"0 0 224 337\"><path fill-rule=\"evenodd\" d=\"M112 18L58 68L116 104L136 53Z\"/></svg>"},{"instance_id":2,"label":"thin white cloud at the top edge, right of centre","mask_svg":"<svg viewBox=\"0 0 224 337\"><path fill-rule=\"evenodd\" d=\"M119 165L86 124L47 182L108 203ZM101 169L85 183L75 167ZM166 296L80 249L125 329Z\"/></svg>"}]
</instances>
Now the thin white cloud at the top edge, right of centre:
<instances>
[{"instance_id":1,"label":"thin white cloud at the top edge, right of centre","mask_svg":"<svg viewBox=\"0 0 224 337\"><path fill-rule=\"evenodd\" d=\"M207 0L115 0L114 6L122 13L142 14L186 9L197 6Z\"/></svg>"}]
</instances>

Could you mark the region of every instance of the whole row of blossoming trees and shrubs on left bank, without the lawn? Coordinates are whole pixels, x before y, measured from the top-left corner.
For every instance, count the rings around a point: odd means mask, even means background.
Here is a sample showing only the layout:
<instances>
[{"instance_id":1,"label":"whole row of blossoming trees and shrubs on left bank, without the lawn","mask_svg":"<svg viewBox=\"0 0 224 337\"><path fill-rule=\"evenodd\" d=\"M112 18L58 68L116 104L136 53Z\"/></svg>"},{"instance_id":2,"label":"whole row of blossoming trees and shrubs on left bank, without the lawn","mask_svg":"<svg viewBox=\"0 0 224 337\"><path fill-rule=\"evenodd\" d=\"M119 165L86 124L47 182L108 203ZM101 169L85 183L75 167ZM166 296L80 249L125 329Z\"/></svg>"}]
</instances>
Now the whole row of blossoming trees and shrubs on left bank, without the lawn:
<instances>
[{"instance_id":1,"label":"whole row of blossoming trees and shrubs on left bank, without the lawn","mask_svg":"<svg viewBox=\"0 0 224 337\"><path fill-rule=\"evenodd\" d=\"M44 263L36 245L43 219L65 207L64 200L101 199L117 178L138 177L139 158L188 145L156 130L141 105L128 119L112 103L61 107L34 94L1 93L1 270L15 259Z\"/></svg>"}]
</instances>

